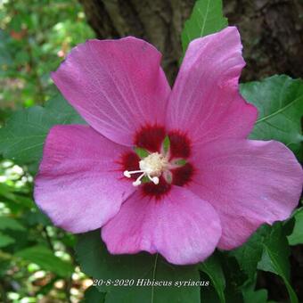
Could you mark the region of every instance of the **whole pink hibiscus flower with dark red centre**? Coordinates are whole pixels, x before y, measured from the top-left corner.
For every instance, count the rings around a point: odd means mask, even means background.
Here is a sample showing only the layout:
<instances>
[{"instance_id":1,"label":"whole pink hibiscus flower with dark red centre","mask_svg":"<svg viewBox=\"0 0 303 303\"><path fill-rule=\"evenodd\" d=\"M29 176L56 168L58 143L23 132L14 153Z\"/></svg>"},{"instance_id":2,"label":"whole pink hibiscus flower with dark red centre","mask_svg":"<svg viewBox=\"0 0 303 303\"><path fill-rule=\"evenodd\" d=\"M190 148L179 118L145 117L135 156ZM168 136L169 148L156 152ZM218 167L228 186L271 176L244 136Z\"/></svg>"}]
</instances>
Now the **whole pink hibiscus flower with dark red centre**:
<instances>
[{"instance_id":1,"label":"whole pink hibiscus flower with dark red centre","mask_svg":"<svg viewBox=\"0 0 303 303\"><path fill-rule=\"evenodd\" d=\"M172 90L160 58L135 37L71 51L52 78L88 126L51 129L35 199L67 231L102 227L112 254L192 264L289 217L302 170L282 143L247 140L258 112L239 94L236 28L192 41Z\"/></svg>"}]
</instances>

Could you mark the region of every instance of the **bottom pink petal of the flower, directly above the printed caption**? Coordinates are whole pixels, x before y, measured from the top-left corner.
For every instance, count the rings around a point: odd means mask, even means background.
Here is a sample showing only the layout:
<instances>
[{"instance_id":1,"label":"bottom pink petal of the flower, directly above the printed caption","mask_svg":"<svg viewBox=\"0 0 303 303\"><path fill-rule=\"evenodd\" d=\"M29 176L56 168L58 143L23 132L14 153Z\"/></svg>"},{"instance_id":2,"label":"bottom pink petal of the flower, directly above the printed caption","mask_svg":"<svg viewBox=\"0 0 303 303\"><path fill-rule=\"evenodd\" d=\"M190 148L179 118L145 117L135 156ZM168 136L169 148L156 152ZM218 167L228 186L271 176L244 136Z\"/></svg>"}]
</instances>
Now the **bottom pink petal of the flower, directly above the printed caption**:
<instances>
[{"instance_id":1,"label":"bottom pink petal of the flower, directly above the printed caption","mask_svg":"<svg viewBox=\"0 0 303 303\"><path fill-rule=\"evenodd\" d=\"M220 235L216 211L178 186L172 186L160 201L135 192L102 227L102 239L112 254L159 252L179 265L208 258Z\"/></svg>"}]
</instances>

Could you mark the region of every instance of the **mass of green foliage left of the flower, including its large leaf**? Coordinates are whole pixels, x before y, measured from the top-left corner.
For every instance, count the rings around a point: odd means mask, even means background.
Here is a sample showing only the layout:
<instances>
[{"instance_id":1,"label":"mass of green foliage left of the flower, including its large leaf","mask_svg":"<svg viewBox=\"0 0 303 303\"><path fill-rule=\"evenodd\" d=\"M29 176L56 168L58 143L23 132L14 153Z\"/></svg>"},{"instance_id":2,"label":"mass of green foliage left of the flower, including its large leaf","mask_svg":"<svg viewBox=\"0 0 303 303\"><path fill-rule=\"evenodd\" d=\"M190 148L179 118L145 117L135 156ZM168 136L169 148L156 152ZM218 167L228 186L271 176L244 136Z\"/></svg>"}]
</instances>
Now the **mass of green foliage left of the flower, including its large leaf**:
<instances>
[{"instance_id":1,"label":"mass of green foliage left of the flower, including its large leaf","mask_svg":"<svg viewBox=\"0 0 303 303\"><path fill-rule=\"evenodd\" d=\"M77 280L71 281L75 266L68 263L66 270L66 262L55 257L64 253L72 258L73 238L52 228L32 197L32 176L49 128L82 121L71 119L73 110L60 102L61 97L46 102L45 107L19 111L48 100L55 90L50 72L58 68L72 46L94 37L82 11L77 0L53 1L51 5L45 0L0 1L1 302L70 302L82 296L84 274L76 274ZM7 162L12 163L10 168L3 165ZM22 169L13 173L17 162ZM54 250L47 249L49 242ZM42 250L25 250L37 245ZM15 256L19 251L21 258ZM41 274L45 274L43 278ZM61 288L55 285L57 281ZM69 293L75 285L78 294Z\"/></svg>"}]
</instances>

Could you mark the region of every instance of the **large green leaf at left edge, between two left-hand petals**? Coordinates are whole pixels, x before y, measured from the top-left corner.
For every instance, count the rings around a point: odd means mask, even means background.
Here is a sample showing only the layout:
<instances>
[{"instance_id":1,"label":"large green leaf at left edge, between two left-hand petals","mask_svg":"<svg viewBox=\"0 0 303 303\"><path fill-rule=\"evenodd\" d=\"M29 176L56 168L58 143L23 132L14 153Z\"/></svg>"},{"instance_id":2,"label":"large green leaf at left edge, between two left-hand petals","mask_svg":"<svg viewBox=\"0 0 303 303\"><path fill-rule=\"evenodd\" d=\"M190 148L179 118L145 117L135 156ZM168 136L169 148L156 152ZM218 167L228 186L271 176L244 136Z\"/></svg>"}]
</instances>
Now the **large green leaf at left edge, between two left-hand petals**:
<instances>
[{"instance_id":1,"label":"large green leaf at left edge, between two left-hand petals","mask_svg":"<svg viewBox=\"0 0 303 303\"><path fill-rule=\"evenodd\" d=\"M45 107L34 106L17 111L0 129L0 153L20 164L38 162L45 136L58 124L81 124L83 120L61 97L56 96Z\"/></svg>"}]
</instances>

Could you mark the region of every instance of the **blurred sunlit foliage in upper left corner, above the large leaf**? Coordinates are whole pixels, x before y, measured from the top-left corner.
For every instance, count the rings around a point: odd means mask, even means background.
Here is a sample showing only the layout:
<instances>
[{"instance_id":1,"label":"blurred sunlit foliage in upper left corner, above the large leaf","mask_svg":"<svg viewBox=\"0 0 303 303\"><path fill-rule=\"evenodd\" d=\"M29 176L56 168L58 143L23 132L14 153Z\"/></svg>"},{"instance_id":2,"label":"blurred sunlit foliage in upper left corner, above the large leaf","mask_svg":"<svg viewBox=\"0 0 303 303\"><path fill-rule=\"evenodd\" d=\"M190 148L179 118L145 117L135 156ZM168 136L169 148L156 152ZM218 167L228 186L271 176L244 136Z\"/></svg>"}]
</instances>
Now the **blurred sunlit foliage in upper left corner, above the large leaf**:
<instances>
[{"instance_id":1,"label":"blurred sunlit foliage in upper left corner, above the large leaf","mask_svg":"<svg viewBox=\"0 0 303 303\"><path fill-rule=\"evenodd\" d=\"M77 0L0 2L0 97L5 108L44 102L49 72L70 48L94 37Z\"/></svg>"}]
</instances>

